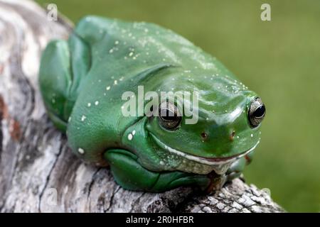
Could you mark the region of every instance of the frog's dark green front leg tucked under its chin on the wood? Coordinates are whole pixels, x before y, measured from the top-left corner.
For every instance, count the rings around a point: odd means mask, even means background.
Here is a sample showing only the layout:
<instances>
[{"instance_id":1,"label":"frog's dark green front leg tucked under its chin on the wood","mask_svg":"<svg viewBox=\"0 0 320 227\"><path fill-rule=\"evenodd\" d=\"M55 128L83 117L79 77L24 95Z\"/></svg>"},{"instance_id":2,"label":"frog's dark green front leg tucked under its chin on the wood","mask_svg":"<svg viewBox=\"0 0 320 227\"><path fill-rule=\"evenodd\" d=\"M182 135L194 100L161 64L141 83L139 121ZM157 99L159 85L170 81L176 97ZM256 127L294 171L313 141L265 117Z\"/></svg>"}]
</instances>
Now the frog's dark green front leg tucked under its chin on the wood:
<instances>
[{"instance_id":1,"label":"frog's dark green front leg tucked under its chin on the wood","mask_svg":"<svg viewBox=\"0 0 320 227\"><path fill-rule=\"evenodd\" d=\"M127 150L108 150L105 158L112 175L124 189L146 192L164 192L180 186L208 188L210 179L206 175L187 172L152 172L137 162L137 156Z\"/></svg>"}]
</instances>

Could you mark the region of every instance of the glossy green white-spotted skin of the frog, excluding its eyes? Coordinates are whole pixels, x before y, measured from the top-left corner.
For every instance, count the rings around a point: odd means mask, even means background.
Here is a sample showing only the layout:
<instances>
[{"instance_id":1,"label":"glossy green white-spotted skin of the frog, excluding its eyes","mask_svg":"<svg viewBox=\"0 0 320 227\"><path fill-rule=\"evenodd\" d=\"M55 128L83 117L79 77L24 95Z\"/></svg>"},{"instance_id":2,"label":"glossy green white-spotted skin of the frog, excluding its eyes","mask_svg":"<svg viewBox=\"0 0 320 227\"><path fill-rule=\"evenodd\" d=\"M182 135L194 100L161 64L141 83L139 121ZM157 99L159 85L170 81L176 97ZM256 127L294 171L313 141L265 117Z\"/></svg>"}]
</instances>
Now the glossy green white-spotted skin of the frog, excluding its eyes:
<instances>
[{"instance_id":1,"label":"glossy green white-spotted skin of the frog, excluding its eyes","mask_svg":"<svg viewBox=\"0 0 320 227\"><path fill-rule=\"evenodd\" d=\"M73 152L110 165L125 189L221 187L238 177L260 141L248 119L257 94L215 57L151 23L87 16L68 41L43 52L39 83L50 119ZM122 115L122 94L198 91L199 118L166 130L156 116Z\"/></svg>"}]
</instances>

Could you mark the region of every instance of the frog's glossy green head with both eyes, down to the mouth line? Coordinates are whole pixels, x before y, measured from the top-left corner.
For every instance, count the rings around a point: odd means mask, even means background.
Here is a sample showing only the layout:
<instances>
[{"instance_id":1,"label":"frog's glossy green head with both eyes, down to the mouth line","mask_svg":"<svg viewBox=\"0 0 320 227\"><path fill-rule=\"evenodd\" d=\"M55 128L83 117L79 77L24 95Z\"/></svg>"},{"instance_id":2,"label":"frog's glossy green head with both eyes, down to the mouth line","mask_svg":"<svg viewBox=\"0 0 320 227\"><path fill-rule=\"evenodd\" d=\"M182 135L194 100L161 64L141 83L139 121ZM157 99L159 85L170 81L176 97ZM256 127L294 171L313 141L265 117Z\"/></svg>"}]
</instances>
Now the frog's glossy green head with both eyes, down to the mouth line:
<instances>
[{"instance_id":1,"label":"frog's glossy green head with both eyes, down to the mouth line","mask_svg":"<svg viewBox=\"0 0 320 227\"><path fill-rule=\"evenodd\" d=\"M162 80L159 90L198 92L198 104L190 100L197 121L188 123L192 117L175 100L162 102L156 110L159 116L149 117L146 130L167 153L215 165L232 162L259 143L265 104L233 75L172 74Z\"/></svg>"}]
</instances>

